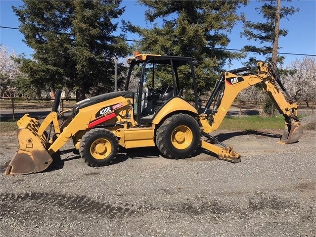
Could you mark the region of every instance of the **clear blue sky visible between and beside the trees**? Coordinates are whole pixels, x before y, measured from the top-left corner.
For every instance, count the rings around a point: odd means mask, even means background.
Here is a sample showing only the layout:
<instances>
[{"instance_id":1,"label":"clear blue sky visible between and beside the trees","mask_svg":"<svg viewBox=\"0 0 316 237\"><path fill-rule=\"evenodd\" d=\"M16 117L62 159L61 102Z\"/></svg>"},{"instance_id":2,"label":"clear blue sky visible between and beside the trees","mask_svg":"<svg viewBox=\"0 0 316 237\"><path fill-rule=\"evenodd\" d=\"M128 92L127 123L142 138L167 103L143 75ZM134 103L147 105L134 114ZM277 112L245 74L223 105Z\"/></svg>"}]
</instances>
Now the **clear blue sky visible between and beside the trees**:
<instances>
[{"instance_id":1,"label":"clear blue sky visible between and beside the trees","mask_svg":"<svg viewBox=\"0 0 316 237\"><path fill-rule=\"evenodd\" d=\"M262 18L255 11L255 7L261 3L255 0L241 7L239 11L246 14L247 19L258 22ZM20 0L0 0L0 26L18 28L20 22L12 10L12 5L21 6L23 2ZM124 14L118 19L130 20L136 25L150 28L152 24L146 23L145 20L140 19L143 16L146 7L136 3L135 0L123 0L122 6L126 6ZM281 47L278 52L282 53L296 53L296 54L312 54L316 55L316 0L292 0L292 2L282 1L281 6L294 6L300 11L289 19L281 19L280 28L288 30L286 37L280 37L278 46ZM245 45L258 46L258 42L248 41L240 37L242 25L237 24L234 29L228 34L230 44L226 48L241 49ZM130 40L137 40L137 35L128 35ZM33 50L29 48L22 40L23 34L19 30L0 28L0 44L9 47L9 50L14 50L17 54L25 53L26 56L31 57ZM283 55L283 54L282 54ZM261 59L258 54L249 54L249 56L256 56ZM290 62L305 57L304 55L288 55L284 54L284 65ZM315 57L315 56L314 56ZM262 57L264 60L264 57ZM229 68L237 68L242 66L242 62L246 59L233 60Z\"/></svg>"}]
</instances>

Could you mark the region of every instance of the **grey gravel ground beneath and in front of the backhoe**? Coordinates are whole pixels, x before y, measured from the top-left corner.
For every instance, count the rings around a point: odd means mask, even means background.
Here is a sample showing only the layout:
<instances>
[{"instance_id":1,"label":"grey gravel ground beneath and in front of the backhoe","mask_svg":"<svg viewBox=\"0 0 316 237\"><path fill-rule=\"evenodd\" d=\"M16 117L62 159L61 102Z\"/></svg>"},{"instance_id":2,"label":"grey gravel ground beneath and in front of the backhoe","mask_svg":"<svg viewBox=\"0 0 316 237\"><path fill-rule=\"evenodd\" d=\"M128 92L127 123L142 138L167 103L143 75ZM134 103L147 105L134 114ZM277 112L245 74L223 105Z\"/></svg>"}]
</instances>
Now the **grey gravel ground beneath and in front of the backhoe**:
<instances>
[{"instance_id":1,"label":"grey gravel ground beneath and in front of the backhoe","mask_svg":"<svg viewBox=\"0 0 316 237\"><path fill-rule=\"evenodd\" d=\"M183 160L121 149L91 168L68 142L48 171L0 177L0 236L316 236L316 131L279 145L282 131L217 131L242 155L199 150ZM17 150L0 132L1 172Z\"/></svg>"}]
</instances>

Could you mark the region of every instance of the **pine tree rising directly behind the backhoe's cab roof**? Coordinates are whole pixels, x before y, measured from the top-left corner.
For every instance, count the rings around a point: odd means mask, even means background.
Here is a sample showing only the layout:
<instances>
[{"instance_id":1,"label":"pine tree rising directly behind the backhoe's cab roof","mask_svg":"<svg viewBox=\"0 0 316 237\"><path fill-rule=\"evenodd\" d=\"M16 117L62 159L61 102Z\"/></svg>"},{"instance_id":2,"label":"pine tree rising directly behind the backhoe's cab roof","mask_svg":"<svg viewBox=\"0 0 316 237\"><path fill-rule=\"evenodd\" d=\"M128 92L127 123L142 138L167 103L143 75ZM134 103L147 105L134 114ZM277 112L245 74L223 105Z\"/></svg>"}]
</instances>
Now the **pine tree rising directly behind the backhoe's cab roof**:
<instances>
[{"instance_id":1,"label":"pine tree rising directly behind the backhoe's cab roof","mask_svg":"<svg viewBox=\"0 0 316 237\"><path fill-rule=\"evenodd\" d=\"M214 86L227 60L240 57L239 53L219 50L217 47L229 44L227 33L240 20L236 10L246 1L139 2L148 7L145 17L154 25L147 29L130 23L130 30L141 36L136 48L142 52L196 58L198 65L195 74L201 94L209 92ZM162 26L156 23L158 18L163 19Z\"/></svg>"}]
</instances>

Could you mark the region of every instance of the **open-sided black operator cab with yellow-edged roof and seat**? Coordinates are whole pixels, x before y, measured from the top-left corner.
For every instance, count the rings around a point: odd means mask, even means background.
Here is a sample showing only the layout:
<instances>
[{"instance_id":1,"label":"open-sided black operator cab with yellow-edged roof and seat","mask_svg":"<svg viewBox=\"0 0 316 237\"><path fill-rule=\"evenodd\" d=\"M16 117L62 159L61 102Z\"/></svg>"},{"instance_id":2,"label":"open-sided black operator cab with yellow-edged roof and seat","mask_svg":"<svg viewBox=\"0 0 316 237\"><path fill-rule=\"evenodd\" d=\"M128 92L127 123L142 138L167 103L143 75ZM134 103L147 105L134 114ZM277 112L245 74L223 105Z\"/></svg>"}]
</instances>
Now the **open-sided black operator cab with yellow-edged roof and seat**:
<instances>
[{"instance_id":1,"label":"open-sided black operator cab with yellow-edged roof and seat","mask_svg":"<svg viewBox=\"0 0 316 237\"><path fill-rule=\"evenodd\" d=\"M172 98L197 99L194 58L137 54L130 64L126 91L134 94L134 118L149 124L159 109ZM197 104L197 101L194 101Z\"/></svg>"}]
</instances>

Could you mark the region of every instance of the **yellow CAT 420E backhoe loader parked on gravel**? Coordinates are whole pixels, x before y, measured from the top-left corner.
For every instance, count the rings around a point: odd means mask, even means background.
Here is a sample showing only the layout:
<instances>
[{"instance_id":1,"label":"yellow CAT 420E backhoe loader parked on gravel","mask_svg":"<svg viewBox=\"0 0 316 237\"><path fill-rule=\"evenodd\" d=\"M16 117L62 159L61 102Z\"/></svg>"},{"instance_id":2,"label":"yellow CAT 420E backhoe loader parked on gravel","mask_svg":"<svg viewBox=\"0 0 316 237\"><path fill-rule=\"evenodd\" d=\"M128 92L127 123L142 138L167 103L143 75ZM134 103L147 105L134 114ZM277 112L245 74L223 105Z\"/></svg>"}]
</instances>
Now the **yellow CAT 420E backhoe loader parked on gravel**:
<instances>
[{"instance_id":1,"label":"yellow CAT 420E backhoe loader parked on gravel","mask_svg":"<svg viewBox=\"0 0 316 237\"><path fill-rule=\"evenodd\" d=\"M4 175L44 171L52 163L52 155L69 140L92 167L111 164L120 146L157 146L171 159L190 157L201 146L219 159L237 163L240 155L211 133L219 128L238 93L256 84L262 85L284 116L285 132L279 143L300 139L303 130L297 103L285 99L281 90L291 97L272 64L260 62L221 73L205 111L199 111L195 63L190 57L135 54L128 59L124 91L77 102L61 125L58 117L67 111L58 112L58 92L42 123L28 114L17 122L20 149ZM187 99L192 94L194 105Z\"/></svg>"}]
</instances>

